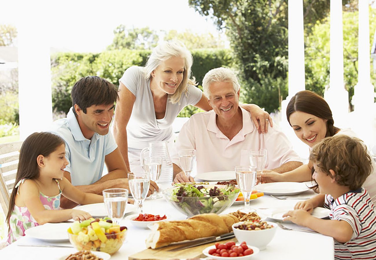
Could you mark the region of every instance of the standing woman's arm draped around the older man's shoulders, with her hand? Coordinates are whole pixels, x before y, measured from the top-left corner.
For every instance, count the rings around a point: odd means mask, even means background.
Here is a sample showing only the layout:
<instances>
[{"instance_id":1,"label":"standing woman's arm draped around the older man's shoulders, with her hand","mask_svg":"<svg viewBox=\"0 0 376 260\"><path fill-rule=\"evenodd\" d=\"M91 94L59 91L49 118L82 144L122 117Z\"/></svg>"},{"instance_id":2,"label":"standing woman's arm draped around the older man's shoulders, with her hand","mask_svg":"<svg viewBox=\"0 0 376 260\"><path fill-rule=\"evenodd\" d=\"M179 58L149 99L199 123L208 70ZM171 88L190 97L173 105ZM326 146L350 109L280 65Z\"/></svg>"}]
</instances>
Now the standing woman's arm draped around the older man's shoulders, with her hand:
<instances>
[{"instance_id":1,"label":"standing woman's arm draped around the older man's shoulders, with her hand","mask_svg":"<svg viewBox=\"0 0 376 260\"><path fill-rule=\"evenodd\" d=\"M197 104L195 104L194 106L205 111L212 110L208 98L206 98L204 94L202 94L200 101L197 102ZM251 113L251 119L256 125L259 133L268 132L268 122L270 123L270 126L273 127L273 121L269 113L262 110L259 106L255 104L241 104L240 106Z\"/></svg>"}]
</instances>

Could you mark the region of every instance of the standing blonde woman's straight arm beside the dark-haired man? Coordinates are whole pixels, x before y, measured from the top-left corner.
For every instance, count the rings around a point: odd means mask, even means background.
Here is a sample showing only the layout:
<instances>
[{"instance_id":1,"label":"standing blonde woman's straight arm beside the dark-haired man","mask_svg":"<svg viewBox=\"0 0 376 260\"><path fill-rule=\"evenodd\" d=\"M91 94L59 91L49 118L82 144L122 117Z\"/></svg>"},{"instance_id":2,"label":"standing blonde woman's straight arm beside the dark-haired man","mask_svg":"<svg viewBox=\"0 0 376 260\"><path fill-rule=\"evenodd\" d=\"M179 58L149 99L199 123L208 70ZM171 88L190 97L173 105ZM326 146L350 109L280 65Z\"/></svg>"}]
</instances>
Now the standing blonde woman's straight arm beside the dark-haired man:
<instances>
[{"instance_id":1,"label":"standing blonde woman's straight arm beside the dark-haired man","mask_svg":"<svg viewBox=\"0 0 376 260\"><path fill-rule=\"evenodd\" d=\"M128 160L128 141L127 141L127 124L130 115L132 114L133 104L135 103L136 96L129 91L129 89L120 82L119 85L119 99L115 106L115 119L114 119L114 138L118 145L124 162L129 168Z\"/></svg>"}]
</instances>

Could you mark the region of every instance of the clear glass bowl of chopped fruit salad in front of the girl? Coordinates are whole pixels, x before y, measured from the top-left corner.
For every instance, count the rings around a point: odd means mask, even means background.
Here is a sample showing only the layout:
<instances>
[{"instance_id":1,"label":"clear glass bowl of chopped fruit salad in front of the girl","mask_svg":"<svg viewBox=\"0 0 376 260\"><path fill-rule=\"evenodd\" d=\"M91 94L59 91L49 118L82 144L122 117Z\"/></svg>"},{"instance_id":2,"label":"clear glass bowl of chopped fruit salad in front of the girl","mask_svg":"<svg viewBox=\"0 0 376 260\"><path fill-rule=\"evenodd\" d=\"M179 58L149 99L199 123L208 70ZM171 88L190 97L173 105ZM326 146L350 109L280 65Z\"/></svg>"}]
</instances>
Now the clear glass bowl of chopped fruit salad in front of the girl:
<instances>
[{"instance_id":1,"label":"clear glass bowl of chopped fruit salad in front of the girl","mask_svg":"<svg viewBox=\"0 0 376 260\"><path fill-rule=\"evenodd\" d=\"M74 221L68 228L68 237L78 250L101 251L114 254L123 245L127 227L120 227L110 218L91 218Z\"/></svg>"}]
</instances>

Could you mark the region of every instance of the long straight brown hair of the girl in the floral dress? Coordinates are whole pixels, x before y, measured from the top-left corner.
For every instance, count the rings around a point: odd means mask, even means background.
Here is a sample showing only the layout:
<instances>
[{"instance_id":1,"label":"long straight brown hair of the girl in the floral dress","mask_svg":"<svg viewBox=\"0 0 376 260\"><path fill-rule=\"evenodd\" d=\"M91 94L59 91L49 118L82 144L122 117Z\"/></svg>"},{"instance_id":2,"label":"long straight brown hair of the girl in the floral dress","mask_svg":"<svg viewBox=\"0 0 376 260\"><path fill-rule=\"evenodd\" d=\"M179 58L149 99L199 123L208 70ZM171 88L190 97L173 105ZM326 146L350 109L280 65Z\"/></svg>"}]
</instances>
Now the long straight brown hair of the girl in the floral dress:
<instances>
[{"instance_id":1,"label":"long straight brown hair of the girl in the floral dress","mask_svg":"<svg viewBox=\"0 0 376 260\"><path fill-rule=\"evenodd\" d=\"M45 157L49 156L51 153L56 151L56 149L62 144L64 144L64 140L52 133L40 132L29 135L21 146L20 159L18 161L18 168L14 186L23 178L38 178L39 166L36 162L36 158L40 154ZM8 228L9 219L11 218L17 194L17 189L15 189L14 186L9 200L8 215L6 216Z\"/></svg>"}]
</instances>

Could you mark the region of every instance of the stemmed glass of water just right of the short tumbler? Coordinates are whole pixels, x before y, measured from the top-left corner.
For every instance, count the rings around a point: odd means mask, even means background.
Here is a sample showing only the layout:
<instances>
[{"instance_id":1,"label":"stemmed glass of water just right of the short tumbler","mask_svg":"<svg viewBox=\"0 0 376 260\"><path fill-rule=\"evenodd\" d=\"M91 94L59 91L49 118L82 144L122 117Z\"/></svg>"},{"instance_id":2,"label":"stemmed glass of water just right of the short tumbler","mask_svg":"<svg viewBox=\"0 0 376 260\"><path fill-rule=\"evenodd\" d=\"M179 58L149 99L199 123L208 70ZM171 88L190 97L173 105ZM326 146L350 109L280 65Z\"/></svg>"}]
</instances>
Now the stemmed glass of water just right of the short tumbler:
<instances>
[{"instance_id":1,"label":"stemmed glass of water just right of the short tumbler","mask_svg":"<svg viewBox=\"0 0 376 260\"><path fill-rule=\"evenodd\" d=\"M143 203L149 192L150 176L147 172L129 172L128 182L130 193L132 193L139 212L143 214Z\"/></svg>"}]
</instances>

